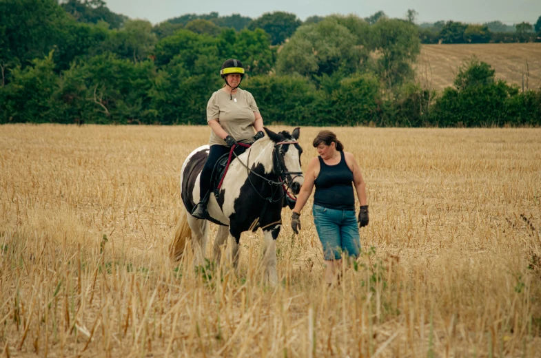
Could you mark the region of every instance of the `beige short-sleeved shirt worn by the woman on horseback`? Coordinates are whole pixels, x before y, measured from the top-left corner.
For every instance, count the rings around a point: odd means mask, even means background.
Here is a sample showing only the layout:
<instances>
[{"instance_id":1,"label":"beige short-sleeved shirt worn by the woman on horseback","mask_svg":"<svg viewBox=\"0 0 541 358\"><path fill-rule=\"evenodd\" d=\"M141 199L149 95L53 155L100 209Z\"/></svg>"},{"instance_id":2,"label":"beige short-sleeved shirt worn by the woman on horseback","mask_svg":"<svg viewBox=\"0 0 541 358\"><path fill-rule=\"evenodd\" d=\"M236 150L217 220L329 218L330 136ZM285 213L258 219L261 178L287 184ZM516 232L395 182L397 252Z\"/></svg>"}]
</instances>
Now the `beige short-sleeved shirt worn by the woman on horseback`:
<instances>
[{"instance_id":1,"label":"beige short-sleeved shirt worn by the woman on horseback","mask_svg":"<svg viewBox=\"0 0 541 358\"><path fill-rule=\"evenodd\" d=\"M238 88L233 99L223 89L218 89L207 104L207 121L217 119L222 128L235 140L251 140L255 134L254 112L259 112L254 96ZM227 145L225 140L210 132L209 145Z\"/></svg>"}]
</instances>

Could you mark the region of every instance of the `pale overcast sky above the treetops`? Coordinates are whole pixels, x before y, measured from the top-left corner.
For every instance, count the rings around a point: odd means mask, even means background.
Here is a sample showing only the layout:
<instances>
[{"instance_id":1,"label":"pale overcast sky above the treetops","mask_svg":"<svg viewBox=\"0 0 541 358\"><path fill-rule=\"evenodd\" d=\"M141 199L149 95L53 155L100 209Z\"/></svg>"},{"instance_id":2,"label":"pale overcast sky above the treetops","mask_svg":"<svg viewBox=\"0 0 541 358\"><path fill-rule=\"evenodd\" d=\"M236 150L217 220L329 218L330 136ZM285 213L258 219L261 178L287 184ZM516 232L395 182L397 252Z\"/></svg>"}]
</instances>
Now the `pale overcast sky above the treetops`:
<instances>
[{"instance_id":1,"label":"pale overcast sky above the treetops","mask_svg":"<svg viewBox=\"0 0 541 358\"><path fill-rule=\"evenodd\" d=\"M105 0L114 12L132 19L159 23L182 14L241 14L256 18L264 12L286 11L305 20L312 15L356 14L367 17L383 10L389 17L404 17L407 9L416 10L418 22L454 20L484 23L500 20L512 25L535 23L541 15L541 0Z\"/></svg>"}]
</instances>

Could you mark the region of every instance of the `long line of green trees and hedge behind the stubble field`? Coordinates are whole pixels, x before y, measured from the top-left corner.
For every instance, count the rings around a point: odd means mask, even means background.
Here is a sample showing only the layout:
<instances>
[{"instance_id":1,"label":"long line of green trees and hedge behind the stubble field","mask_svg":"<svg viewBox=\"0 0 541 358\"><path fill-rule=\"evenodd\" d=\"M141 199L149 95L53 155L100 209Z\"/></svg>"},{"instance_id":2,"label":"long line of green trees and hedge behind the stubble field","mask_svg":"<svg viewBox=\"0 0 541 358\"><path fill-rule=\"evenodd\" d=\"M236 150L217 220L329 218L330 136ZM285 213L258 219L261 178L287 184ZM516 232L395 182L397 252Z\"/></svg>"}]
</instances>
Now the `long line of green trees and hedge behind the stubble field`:
<instances>
[{"instance_id":1,"label":"long line of green trees and hedge behind the stubble field","mask_svg":"<svg viewBox=\"0 0 541 358\"><path fill-rule=\"evenodd\" d=\"M205 124L221 63L238 58L267 123L541 124L541 90L498 81L475 58L431 91L414 70L414 17L212 12L153 26L102 0L4 0L0 123Z\"/></svg>"}]
</instances>

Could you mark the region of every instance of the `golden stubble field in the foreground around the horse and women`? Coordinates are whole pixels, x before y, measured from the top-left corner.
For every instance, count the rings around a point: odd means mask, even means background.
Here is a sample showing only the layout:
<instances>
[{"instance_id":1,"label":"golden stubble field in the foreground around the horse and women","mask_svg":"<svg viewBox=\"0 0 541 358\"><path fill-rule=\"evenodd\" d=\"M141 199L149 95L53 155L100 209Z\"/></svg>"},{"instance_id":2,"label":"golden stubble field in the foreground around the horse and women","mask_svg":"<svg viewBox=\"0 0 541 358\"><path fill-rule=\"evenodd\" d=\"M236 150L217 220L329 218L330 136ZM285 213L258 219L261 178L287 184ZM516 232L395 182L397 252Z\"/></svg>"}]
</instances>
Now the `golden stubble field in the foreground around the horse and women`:
<instances>
[{"instance_id":1,"label":"golden stubble field in the foreground around the horse and women","mask_svg":"<svg viewBox=\"0 0 541 358\"><path fill-rule=\"evenodd\" d=\"M207 127L1 126L2 356L541 357L541 130L334 130L363 254L327 288L310 202L298 236L284 209L273 289L261 231L238 275L167 255Z\"/></svg>"}]
</instances>

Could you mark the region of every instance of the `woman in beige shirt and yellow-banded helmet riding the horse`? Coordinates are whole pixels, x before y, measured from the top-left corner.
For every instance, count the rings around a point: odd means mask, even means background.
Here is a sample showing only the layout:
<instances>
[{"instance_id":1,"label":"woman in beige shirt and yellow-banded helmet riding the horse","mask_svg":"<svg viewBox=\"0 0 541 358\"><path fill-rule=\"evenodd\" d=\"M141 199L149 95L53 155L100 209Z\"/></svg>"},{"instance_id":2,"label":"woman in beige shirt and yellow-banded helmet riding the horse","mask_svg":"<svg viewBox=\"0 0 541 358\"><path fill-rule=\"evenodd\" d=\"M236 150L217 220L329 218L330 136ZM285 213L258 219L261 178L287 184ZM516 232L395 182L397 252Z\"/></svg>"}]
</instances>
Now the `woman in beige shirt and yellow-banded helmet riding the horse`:
<instances>
[{"instance_id":1,"label":"woman in beige shirt and yellow-banded helmet riding the horse","mask_svg":"<svg viewBox=\"0 0 541 358\"><path fill-rule=\"evenodd\" d=\"M244 73L241 61L236 59L225 61L220 71L225 85L212 94L207 104L207 122L212 131L209 140L209 156L199 182L199 193L202 199L192 211L192 216L198 219L207 218L210 180L216 161L229 153L229 149L236 145L237 141L255 141L265 136L263 118L261 118L254 96L238 87L243 81ZM255 136L254 128L257 131ZM243 150L242 147L238 148ZM240 151L236 153L240 154Z\"/></svg>"}]
</instances>

